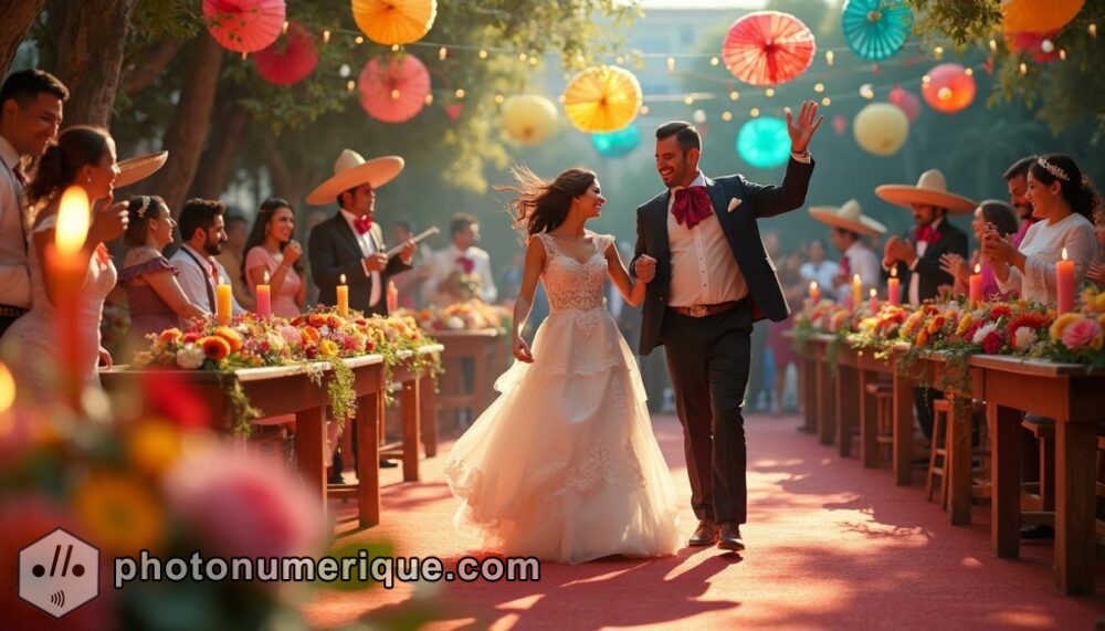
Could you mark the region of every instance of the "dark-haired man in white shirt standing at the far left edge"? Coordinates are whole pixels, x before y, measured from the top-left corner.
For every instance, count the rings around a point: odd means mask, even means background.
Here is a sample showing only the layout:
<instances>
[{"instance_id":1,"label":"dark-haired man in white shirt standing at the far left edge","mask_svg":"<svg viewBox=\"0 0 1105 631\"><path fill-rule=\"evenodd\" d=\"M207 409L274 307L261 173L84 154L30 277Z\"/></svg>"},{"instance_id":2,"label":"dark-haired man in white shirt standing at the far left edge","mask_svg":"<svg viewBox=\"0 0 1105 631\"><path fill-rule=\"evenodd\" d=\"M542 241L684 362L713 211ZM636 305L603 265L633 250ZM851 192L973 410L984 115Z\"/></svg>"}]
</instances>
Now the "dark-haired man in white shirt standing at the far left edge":
<instances>
[{"instance_id":1,"label":"dark-haired man in white shirt standing at the far left edge","mask_svg":"<svg viewBox=\"0 0 1105 631\"><path fill-rule=\"evenodd\" d=\"M23 159L57 137L69 91L40 70L11 73L0 87L0 336L31 308L23 215Z\"/></svg>"}]
</instances>

